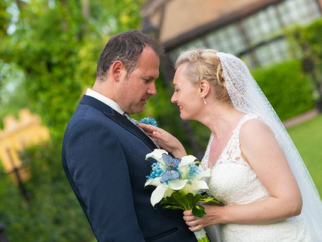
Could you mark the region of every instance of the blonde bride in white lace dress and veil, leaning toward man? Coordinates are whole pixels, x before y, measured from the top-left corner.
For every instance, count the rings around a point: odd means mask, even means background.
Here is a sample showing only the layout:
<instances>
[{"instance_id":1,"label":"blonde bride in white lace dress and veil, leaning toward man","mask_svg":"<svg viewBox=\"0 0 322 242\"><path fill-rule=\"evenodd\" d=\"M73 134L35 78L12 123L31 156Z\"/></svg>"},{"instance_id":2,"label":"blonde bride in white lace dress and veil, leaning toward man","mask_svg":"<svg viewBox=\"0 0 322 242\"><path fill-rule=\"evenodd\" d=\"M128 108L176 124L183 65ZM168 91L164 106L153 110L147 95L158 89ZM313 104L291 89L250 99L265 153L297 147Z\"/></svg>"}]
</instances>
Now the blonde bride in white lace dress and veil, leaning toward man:
<instances>
[{"instance_id":1,"label":"blonde bride in white lace dress and veil, leaning toward man","mask_svg":"<svg viewBox=\"0 0 322 242\"><path fill-rule=\"evenodd\" d=\"M322 241L322 203L280 119L246 65L212 49L183 52L171 101L183 119L211 130L202 160L212 167L208 193L224 207L204 205L206 216L184 211L191 231L210 241ZM176 157L182 144L166 131L140 124Z\"/></svg>"}]
</instances>

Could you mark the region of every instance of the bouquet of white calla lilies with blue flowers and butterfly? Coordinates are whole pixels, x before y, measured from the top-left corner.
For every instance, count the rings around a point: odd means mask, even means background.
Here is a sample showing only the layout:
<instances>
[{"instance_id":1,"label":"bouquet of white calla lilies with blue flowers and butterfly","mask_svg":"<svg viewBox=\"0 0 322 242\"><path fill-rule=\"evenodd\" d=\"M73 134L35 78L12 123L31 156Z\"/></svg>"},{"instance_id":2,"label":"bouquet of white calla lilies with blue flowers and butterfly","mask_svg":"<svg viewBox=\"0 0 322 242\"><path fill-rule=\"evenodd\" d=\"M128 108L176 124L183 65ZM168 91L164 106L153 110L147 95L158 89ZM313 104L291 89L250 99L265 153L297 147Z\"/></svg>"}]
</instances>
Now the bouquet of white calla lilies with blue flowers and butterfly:
<instances>
[{"instance_id":1,"label":"bouquet of white calla lilies with blue flowers and butterfly","mask_svg":"<svg viewBox=\"0 0 322 242\"><path fill-rule=\"evenodd\" d=\"M156 187L151 195L153 207L161 201L160 204L166 209L192 209L193 215L200 218L206 215L202 203L223 205L213 196L202 193L208 189L203 179L210 176L210 168L203 170L196 157L188 155L181 159L173 158L162 149L155 149L145 159L149 157L156 160L145 183L145 186ZM194 233L198 241L209 242L204 229Z\"/></svg>"}]
</instances>

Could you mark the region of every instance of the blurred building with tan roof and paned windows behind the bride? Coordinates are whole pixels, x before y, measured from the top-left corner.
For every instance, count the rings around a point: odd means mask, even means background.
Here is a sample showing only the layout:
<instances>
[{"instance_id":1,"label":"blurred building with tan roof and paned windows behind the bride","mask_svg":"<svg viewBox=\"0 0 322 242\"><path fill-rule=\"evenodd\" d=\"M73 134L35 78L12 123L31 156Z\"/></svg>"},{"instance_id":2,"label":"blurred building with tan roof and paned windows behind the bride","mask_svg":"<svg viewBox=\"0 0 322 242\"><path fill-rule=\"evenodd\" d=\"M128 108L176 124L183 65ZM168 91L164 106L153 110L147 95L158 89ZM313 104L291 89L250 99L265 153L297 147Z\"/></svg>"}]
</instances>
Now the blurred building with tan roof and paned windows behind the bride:
<instances>
[{"instance_id":1,"label":"blurred building with tan roof and paned windows behind the bride","mask_svg":"<svg viewBox=\"0 0 322 242\"><path fill-rule=\"evenodd\" d=\"M150 0L143 6L142 31L154 31L173 66L180 52L208 47L263 67L299 53L285 29L322 16L322 0Z\"/></svg>"}]
</instances>

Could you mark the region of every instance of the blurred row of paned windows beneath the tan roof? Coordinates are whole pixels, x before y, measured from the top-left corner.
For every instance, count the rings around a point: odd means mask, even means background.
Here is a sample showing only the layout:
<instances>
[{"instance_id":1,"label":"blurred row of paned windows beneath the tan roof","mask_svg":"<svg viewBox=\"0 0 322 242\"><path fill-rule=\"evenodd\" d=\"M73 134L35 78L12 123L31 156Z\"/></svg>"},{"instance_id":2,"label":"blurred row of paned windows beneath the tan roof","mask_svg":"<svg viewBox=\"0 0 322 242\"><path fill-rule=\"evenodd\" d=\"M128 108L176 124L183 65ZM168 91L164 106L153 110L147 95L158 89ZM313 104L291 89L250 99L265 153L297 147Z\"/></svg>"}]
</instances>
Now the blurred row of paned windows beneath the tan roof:
<instances>
[{"instance_id":1,"label":"blurred row of paned windows beneath the tan roof","mask_svg":"<svg viewBox=\"0 0 322 242\"><path fill-rule=\"evenodd\" d=\"M270 65L299 54L298 50L289 49L285 39L275 39L283 34L285 27L306 25L320 17L316 0L285 0L248 16L239 23L229 24L184 44L172 50L170 57L175 62L183 50L209 47L234 55L243 53L240 57L249 67ZM248 43L240 28L245 31ZM254 46L258 47L254 49Z\"/></svg>"}]
</instances>

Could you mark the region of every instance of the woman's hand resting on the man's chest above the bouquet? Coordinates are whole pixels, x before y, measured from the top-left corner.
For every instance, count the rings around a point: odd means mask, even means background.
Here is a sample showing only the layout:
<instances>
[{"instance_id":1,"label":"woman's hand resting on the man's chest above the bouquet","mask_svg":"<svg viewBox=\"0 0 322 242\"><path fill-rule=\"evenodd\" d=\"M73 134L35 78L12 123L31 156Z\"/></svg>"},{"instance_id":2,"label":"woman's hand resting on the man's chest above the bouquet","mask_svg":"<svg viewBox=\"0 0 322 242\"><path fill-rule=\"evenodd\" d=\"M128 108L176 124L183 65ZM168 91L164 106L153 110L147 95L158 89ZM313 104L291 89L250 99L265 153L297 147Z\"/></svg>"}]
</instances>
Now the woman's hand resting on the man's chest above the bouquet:
<instances>
[{"instance_id":1,"label":"woman's hand resting on the man's chest above the bouquet","mask_svg":"<svg viewBox=\"0 0 322 242\"><path fill-rule=\"evenodd\" d=\"M161 148L168 151L175 157L181 158L187 155L186 150L180 141L167 131L152 125L141 123L139 123L138 126L141 127L148 136L152 137Z\"/></svg>"}]
</instances>

